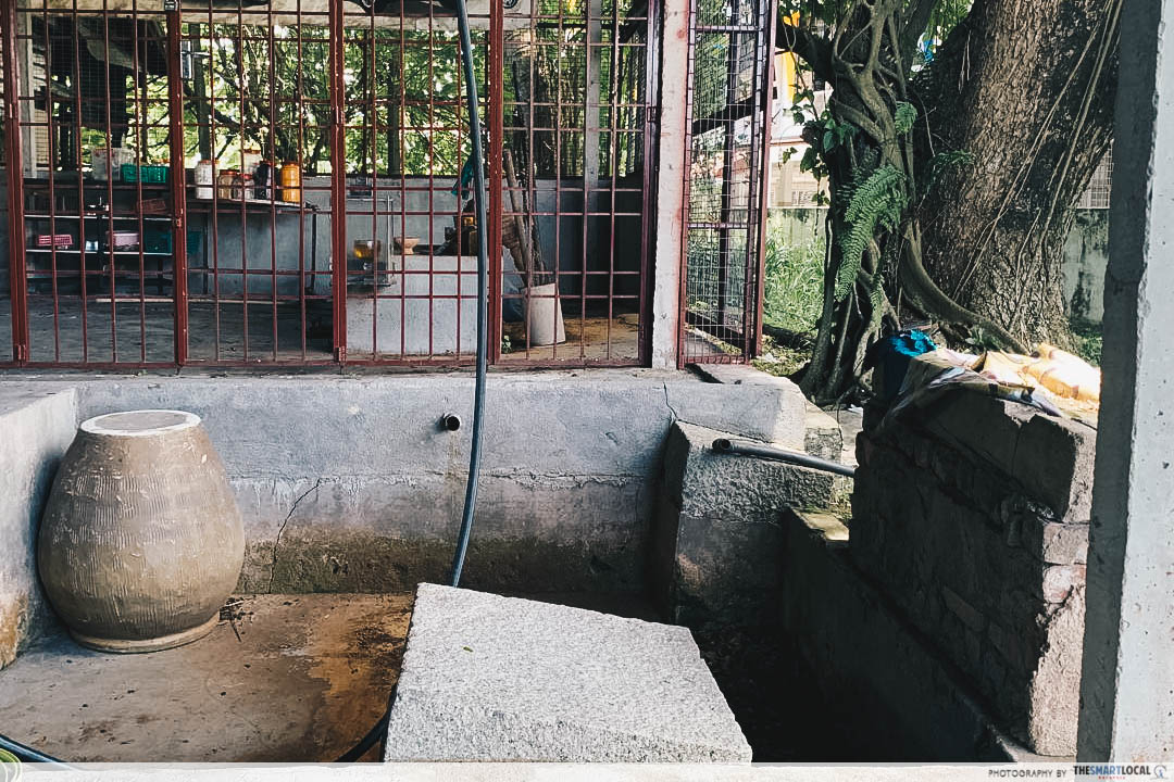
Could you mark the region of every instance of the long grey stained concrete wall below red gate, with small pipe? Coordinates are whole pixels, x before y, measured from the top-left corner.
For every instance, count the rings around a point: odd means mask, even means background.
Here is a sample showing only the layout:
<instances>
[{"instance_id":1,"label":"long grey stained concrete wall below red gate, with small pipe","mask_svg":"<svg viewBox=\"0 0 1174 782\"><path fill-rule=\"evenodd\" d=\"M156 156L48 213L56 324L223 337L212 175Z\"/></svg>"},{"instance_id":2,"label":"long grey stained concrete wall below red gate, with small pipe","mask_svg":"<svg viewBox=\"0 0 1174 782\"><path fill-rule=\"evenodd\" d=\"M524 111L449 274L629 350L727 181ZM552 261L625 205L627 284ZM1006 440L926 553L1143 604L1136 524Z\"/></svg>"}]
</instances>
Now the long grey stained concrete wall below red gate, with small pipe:
<instances>
[{"instance_id":1,"label":"long grey stained concrete wall below red gate, with small pipe","mask_svg":"<svg viewBox=\"0 0 1174 782\"><path fill-rule=\"evenodd\" d=\"M0 387L39 388L16 378ZM204 417L245 518L243 591L403 590L448 570L468 460L468 375L53 383L75 389L79 420L155 407ZM444 413L466 428L441 431ZM642 590L675 420L757 438L789 427L790 442L803 441L794 386L687 373L495 374L487 415L465 584L498 591Z\"/></svg>"}]
</instances>

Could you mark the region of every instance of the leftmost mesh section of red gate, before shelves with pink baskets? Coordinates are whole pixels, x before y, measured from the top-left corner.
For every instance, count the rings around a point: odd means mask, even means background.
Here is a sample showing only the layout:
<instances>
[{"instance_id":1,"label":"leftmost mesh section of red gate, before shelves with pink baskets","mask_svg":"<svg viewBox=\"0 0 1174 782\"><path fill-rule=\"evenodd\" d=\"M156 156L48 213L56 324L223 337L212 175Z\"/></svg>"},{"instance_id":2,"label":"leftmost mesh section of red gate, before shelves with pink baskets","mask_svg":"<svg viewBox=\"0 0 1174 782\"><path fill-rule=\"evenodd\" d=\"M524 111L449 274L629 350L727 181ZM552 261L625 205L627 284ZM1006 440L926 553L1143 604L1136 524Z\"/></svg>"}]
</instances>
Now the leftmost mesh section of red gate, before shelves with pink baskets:
<instances>
[{"instance_id":1,"label":"leftmost mesh section of red gate, before shelves with pink baskets","mask_svg":"<svg viewBox=\"0 0 1174 782\"><path fill-rule=\"evenodd\" d=\"M18 0L20 225L26 359L153 365L175 348L168 25L76 0ZM12 206L13 204L9 204Z\"/></svg>"}]
</instances>

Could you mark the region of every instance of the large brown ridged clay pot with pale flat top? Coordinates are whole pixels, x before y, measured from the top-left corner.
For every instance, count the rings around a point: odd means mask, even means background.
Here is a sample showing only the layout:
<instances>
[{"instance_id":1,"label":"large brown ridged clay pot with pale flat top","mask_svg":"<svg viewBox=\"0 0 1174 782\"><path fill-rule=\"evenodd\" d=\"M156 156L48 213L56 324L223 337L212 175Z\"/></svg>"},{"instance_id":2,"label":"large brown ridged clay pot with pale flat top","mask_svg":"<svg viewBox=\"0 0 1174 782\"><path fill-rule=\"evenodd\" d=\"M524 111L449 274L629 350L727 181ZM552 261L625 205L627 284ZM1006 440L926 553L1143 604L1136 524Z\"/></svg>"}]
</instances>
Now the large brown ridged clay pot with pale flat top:
<instances>
[{"instance_id":1,"label":"large brown ridged clay pot with pale flat top","mask_svg":"<svg viewBox=\"0 0 1174 782\"><path fill-rule=\"evenodd\" d=\"M49 601L85 646L151 652L211 631L241 573L244 529L200 416L135 410L82 423L36 557Z\"/></svg>"}]
</instances>

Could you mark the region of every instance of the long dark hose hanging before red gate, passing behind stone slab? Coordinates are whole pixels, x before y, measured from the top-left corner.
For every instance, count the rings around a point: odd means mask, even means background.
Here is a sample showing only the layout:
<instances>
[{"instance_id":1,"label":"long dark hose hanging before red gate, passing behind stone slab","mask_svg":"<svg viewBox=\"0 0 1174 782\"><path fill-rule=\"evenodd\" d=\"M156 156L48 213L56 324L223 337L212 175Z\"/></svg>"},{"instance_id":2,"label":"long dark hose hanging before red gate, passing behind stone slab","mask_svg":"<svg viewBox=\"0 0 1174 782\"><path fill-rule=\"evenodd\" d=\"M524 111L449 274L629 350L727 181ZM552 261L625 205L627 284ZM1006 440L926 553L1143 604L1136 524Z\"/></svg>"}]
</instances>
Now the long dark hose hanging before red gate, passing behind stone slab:
<instances>
[{"instance_id":1,"label":"long dark hose hanging before red gate, passing behind stone slab","mask_svg":"<svg viewBox=\"0 0 1174 782\"><path fill-rule=\"evenodd\" d=\"M460 572L465 567L465 555L468 553L468 538L473 532L473 512L477 510L477 483L481 470L481 427L485 422L485 380L488 372L488 298L490 298L490 245L485 229L486 191L484 154L481 150L481 118L478 113L477 72L473 69L473 42L468 32L468 13L465 0L457 0L457 27L460 32L460 55L465 66L465 87L468 94L468 132L473 142L473 198L477 208L477 386L473 389L473 429L468 447L468 480L465 483L465 512L460 519L460 532L457 536L457 551L452 558L452 572L448 584L460 584ZM458 247L459 250L459 247ZM458 264L459 266L459 264ZM387 710L363 739L337 762L353 763L365 755L387 733L387 720L391 718L392 691Z\"/></svg>"}]
</instances>

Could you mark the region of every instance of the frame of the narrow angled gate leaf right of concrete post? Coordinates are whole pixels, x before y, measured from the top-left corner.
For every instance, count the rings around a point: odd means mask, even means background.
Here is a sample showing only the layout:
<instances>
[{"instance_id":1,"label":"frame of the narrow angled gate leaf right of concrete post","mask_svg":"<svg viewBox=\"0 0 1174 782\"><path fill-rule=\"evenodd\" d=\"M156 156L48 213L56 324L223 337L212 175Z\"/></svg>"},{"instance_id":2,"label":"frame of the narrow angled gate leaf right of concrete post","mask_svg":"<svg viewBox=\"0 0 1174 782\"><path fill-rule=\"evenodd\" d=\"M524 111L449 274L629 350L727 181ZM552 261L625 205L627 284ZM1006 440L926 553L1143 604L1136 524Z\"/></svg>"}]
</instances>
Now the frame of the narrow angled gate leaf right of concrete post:
<instances>
[{"instance_id":1,"label":"frame of the narrow angled gate leaf right of concrete post","mask_svg":"<svg viewBox=\"0 0 1174 782\"><path fill-rule=\"evenodd\" d=\"M767 245L767 213L769 203L769 165L767 159L770 150L770 102L774 90L774 41L777 25L777 0L733 0L730 23L714 25L699 20L701 4L704 0L689 0L689 53L686 97L686 141L684 141L684 219L682 220L681 242L681 287L679 293L679 328L677 328L677 366L690 363L748 363L762 351L762 299L764 290L764 266ZM738 23L738 12L745 6L755 8L751 23ZM726 64L726 103L718 111L704 116L695 116L697 87L699 38L704 34L723 34L730 41ZM747 100L736 101L736 87L740 79L738 46L735 42L740 35L754 36L753 86ZM731 218L731 179L735 155L735 124L749 120L750 140L747 145L749 203L747 223L740 224ZM716 222L693 222L690 210L693 191L693 142L707 130L724 129L723 176L721 193L721 212ZM745 229L748 249L742 271L743 291L741 317L730 324L727 318L729 292L729 257L731 230ZM689 252L689 234L691 231L716 231L717 251L717 314L713 319L693 313L689 310L688 286L690 264L694 258ZM690 327L713 338L713 347L690 349ZM733 349L730 349L733 348Z\"/></svg>"}]
</instances>

